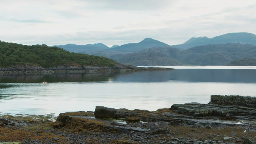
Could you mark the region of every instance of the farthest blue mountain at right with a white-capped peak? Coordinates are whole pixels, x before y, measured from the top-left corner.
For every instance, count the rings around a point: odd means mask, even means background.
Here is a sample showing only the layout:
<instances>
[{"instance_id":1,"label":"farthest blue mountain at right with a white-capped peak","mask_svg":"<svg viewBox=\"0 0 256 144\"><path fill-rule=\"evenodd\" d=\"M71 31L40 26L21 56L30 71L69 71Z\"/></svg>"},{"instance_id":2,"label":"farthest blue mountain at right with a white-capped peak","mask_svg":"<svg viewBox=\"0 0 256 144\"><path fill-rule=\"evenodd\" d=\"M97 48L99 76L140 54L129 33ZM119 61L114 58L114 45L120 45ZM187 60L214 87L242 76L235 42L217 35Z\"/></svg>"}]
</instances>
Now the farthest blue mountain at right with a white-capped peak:
<instances>
[{"instance_id":1,"label":"farthest blue mountain at right with a white-capped peak","mask_svg":"<svg viewBox=\"0 0 256 144\"><path fill-rule=\"evenodd\" d=\"M180 50L186 50L194 46L201 46L206 44L227 44L227 43L241 43L256 45L256 35L247 32L228 33L214 38L207 38L206 36L193 36L184 44L173 45L173 47Z\"/></svg>"}]
</instances>

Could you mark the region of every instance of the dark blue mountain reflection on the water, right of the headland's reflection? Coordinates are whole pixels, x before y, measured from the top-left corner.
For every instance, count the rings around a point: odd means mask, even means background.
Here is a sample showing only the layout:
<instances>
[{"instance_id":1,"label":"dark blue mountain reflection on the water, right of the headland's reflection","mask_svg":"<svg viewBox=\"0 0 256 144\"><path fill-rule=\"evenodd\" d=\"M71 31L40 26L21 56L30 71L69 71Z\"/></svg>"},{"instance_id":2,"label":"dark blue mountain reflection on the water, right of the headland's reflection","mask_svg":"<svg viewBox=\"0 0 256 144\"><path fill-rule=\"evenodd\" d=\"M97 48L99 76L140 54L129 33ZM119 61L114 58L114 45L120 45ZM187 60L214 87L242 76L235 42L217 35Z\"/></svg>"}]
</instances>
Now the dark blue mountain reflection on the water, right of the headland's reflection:
<instances>
[{"instance_id":1,"label":"dark blue mountain reflection on the water, right of the headland's reflection","mask_svg":"<svg viewBox=\"0 0 256 144\"><path fill-rule=\"evenodd\" d=\"M256 83L256 70L250 69L176 69L168 71L142 71L119 75L120 82L232 82Z\"/></svg>"}]
</instances>

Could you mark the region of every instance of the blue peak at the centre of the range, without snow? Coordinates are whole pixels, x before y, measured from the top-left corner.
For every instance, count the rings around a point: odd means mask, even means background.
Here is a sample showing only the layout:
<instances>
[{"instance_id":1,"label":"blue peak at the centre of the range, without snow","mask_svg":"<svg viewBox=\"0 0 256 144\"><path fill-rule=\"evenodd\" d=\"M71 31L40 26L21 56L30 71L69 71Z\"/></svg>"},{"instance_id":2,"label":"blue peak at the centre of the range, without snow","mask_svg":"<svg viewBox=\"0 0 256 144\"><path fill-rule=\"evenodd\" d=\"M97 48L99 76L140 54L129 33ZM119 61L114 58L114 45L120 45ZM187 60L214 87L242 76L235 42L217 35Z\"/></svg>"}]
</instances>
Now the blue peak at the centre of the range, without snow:
<instances>
[{"instance_id":1,"label":"blue peak at the centre of the range, without snow","mask_svg":"<svg viewBox=\"0 0 256 144\"><path fill-rule=\"evenodd\" d=\"M141 42L124 44L124 45L112 48L112 50L116 50L119 52L138 52L144 48L165 47L165 46L170 46L170 45L160 42L158 40L154 40L152 38L145 38Z\"/></svg>"}]
</instances>

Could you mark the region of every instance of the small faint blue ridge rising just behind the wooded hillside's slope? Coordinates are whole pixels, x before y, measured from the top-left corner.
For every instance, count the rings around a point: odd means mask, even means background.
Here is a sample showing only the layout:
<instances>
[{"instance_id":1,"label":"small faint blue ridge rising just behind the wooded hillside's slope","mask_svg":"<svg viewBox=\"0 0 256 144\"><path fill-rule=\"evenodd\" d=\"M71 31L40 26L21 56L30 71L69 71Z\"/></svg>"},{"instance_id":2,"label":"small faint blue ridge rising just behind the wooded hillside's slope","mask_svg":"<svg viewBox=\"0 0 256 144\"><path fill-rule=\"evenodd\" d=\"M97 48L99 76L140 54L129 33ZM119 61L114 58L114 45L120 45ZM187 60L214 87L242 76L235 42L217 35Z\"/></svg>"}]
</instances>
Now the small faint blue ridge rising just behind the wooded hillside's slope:
<instances>
[{"instance_id":1,"label":"small faint blue ridge rising just behind the wooded hillside's slope","mask_svg":"<svg viewBox=\"0 0 256 144\"><path fill-rule=\"evenodd\" d=\"M59 48L63 48L64 50L68 50L70 52L84 53L86 51L95 51L95 50L106 50L109 47L102 43L97 44L86 44L86 45L76 45L76 44L66 44L56 46Z\"/></svg>"}]
</instances>

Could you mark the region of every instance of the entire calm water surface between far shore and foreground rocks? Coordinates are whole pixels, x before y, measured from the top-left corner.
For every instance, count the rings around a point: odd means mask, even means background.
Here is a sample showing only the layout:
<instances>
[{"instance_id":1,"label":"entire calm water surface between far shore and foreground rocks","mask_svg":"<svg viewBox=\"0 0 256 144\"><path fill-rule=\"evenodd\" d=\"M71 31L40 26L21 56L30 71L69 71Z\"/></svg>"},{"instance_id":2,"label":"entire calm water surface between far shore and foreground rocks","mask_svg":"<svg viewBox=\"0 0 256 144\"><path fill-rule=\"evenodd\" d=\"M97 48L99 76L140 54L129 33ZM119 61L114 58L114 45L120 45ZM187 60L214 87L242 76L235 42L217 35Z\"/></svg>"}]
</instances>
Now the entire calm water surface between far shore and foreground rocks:
<instances>
[{"instance_id":1,"label":"entire calm water surface between far shore and foreground rocks","mask_svg":"<svg viewBox=\"0 0 256 144\"><path fill-rule=\"evenodd\" d=\"M2 74L0 114L58 115L95 106L155 111L172 104L207 104L211 95L256 96L256 66L164 67L175 70Z\"/></svg>"}]
</instances>

